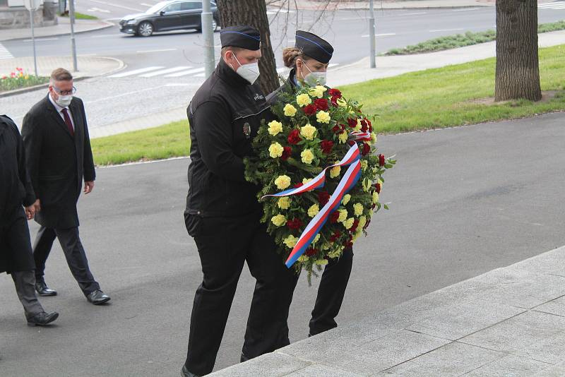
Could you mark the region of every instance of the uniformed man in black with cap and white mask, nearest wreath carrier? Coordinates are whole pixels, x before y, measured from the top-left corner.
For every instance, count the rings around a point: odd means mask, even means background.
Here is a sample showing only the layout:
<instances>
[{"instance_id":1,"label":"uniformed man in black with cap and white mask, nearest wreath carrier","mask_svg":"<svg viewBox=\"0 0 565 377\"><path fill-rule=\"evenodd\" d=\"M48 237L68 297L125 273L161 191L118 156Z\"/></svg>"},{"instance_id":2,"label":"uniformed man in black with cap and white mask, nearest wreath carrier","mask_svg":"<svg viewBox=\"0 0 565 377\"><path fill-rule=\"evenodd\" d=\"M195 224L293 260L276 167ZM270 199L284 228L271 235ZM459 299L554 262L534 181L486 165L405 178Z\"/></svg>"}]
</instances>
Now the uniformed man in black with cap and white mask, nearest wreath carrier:
<instances>
[{"instance_id":1,"label":"uniformed man in black with cap and white mask, nearest wreath carrier","mask_svg":"<svg viewBox=\"0 0 565 377\"><path fill-rule=\"evenodd\" d=\"M245 156L269 105L258 85L261 37L249 26L220 32L222 59L192 98L189 194L184 213L202 263L183 376L212 371L244 261L256 278L242 361L289 344L288 307L295 285L244 177Z\"/></svg>"}]
</instances>

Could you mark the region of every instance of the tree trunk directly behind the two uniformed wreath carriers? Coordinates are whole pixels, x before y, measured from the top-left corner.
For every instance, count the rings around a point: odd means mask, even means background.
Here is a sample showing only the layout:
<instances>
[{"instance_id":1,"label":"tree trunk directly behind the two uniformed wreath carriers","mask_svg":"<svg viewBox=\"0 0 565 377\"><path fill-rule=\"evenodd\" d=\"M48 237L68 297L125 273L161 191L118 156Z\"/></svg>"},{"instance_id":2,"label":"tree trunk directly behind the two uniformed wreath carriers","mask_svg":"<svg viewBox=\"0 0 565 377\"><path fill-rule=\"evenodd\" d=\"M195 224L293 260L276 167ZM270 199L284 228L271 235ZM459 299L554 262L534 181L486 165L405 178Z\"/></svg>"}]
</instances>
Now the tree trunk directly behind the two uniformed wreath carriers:
<instances>
[{"instance_id":1,"label":"tree trunk directly behind the two uniformed wreath carriers","mask_svg":"<svg viewBox=\"0 0 565 377\"><path fill-rule=\"evenodd\" d=\"M264 94L279 87L275 54L270 44L269 20L265 0L218 0L220 25L249 25L261 32L261 54L259 59L259 83Z\"/></svg>"}]
</instances>

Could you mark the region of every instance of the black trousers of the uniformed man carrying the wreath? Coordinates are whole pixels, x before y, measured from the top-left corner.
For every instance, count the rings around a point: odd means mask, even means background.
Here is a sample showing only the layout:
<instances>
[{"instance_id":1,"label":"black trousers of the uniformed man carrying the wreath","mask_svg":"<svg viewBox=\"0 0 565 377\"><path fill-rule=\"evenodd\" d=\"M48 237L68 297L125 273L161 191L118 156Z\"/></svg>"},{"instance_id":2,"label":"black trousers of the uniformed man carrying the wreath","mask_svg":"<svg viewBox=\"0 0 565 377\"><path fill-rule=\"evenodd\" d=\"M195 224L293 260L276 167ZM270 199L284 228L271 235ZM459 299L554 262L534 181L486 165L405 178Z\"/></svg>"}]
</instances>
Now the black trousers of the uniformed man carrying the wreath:
<instances>
[{"instance_id":1,"label":"black trousers of the uniformed man carrying the wreath","mask_svg":"<svg viewBox=\"0 0 565 377\"><path fill-rule=\"evenodd\" d=\"M275 251L260 217L261 213L243 217L185 214L186 229L194 237L204 274L194 297L185 363L198 376L213 369L245 261L257 281L242 358L252 359L290 344L287 318L296 274Z\"/></svg>"}]
</instances>

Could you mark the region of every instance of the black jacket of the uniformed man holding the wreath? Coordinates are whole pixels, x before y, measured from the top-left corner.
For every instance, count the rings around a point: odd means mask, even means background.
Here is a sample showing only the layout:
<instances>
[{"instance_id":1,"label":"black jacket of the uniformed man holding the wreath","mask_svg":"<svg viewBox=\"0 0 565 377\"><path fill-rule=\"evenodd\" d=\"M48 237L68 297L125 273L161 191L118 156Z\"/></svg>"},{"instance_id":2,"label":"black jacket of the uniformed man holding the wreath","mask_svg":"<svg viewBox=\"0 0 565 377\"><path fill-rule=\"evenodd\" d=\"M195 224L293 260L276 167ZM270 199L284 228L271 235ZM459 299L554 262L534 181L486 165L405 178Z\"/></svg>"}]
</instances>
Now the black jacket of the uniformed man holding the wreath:
<instances>
[{"instance_id":1,"label":"black jacket of the uniformed man holding the wreath","mask_svg":"<svg viewBox=\"0 0 565 377\"><path fill-rule=\"evenodd\" d=\"M261 119L273 119L268 109L258 84L249 85L220 59L186 109L191 137L186 213L225 217L261 208L258 186L245 180L243 159L253 155L251 141Z\"/></svg>"}]
</instances>

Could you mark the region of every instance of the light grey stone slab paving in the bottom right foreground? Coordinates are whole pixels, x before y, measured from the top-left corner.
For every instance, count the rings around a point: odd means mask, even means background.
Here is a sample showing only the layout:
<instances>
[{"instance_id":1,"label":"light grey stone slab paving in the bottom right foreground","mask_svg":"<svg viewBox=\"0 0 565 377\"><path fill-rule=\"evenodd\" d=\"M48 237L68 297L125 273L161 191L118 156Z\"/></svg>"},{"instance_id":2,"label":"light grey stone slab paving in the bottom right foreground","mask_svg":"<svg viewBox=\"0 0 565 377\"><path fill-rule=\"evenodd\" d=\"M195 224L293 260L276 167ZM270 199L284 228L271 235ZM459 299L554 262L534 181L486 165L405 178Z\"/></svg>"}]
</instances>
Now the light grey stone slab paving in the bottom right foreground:
<instances>
[{"instance_id":1,"label":"light grey stone slab paving in the bottom right foreground","mask_svg":"<svg viewBox=\"0 0 565 377\"><path fill-rule=\"evenodd\" d=\"M215 377L565 376L565 246Z\"/></svg>"}]
</instances>

